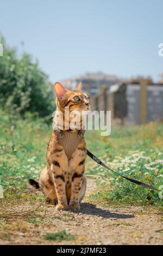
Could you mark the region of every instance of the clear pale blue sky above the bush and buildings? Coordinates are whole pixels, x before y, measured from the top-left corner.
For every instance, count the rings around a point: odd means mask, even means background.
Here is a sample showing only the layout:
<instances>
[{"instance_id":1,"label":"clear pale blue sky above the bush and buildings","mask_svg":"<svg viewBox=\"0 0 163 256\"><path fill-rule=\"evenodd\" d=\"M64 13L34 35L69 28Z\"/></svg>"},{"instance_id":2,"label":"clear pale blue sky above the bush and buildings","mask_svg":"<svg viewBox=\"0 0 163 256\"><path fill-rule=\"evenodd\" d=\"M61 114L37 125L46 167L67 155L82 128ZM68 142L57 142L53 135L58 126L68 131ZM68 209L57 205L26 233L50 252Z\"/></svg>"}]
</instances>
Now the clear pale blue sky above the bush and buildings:
<instances>
[{"instance_id":1,"label":"clear pale blue sky above the bush and buildings","mask_svg":"<svg viewBox=\"0 0 163 256\"><path fill-rule=\"evenodd\" d=\"M162 0L3 0L0 32L39 59L52 82L96 71L156 81L162 10Z\"/></svg>"}]
</instances>

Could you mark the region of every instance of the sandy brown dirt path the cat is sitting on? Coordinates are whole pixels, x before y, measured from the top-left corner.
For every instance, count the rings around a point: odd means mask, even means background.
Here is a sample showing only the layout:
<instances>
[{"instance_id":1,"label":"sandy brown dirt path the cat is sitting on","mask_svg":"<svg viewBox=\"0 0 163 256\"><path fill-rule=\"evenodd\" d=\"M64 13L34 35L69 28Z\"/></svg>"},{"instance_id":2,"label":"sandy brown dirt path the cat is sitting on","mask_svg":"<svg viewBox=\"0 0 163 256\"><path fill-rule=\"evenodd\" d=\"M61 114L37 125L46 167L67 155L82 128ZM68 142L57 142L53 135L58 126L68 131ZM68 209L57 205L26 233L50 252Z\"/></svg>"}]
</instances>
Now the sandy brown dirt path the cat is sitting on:
<instances>
[{"instance_id":1,"label":"sandy brown dirt path the cat is sitting on","mask_svg":"<svg viewBox=\"0 0 163 256\"><path fill-rule=\"evenodd\" d=\"M95 182L88 180L87 195L95 191ZM96 206L85 199L80 212L55 211L55 207L43 203L40 206L42 217L35 223L22 219L9 219L0 233L1 244L57 244L57 245L160 245L162 244L162 215L146 213L143 207L112 209ZM14 209L21 211L32 205L17 205ZM49 217L51 216L51 217ZM30 220L30 219L29 219ZM1 228L1 225L0 225ZM76 235L72 241L46 241L43 235L66 230ZM2 232L2 230L0 230ZM9 237L5 237L9 234Z\"/></svg>"}]
</instances>

